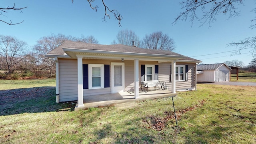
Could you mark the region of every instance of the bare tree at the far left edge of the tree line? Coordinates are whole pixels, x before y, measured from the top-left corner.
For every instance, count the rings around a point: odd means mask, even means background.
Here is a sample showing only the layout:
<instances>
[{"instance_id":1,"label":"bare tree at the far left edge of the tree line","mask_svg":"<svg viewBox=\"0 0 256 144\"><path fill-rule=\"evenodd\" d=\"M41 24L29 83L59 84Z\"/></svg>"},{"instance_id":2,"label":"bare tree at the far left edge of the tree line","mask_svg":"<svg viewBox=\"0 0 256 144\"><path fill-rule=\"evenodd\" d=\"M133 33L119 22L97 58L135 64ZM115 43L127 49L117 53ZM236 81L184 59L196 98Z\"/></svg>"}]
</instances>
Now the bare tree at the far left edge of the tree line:
<instances>
[{"instance_id":1,"label":"bare tree at the far left edge of the tree line","mask_svg":"<svg viewBox=\"0 0 256 144\"><path fill-rule=\"evenodd\" d=\"M0 36L0 60L9 73L12 73L15 65L24 59L26 46L26 42L12 36Z\"/></svg>"}]
</instances>

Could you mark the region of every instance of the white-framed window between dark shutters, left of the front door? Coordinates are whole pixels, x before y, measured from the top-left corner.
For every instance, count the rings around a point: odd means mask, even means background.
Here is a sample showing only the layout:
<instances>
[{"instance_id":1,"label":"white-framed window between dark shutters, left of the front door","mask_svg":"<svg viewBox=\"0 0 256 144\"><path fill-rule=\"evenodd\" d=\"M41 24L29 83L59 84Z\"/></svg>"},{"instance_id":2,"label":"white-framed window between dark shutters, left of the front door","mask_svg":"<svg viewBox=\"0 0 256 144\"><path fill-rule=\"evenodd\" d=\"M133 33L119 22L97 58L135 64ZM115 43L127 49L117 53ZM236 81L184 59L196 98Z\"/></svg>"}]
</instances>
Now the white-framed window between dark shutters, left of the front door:
<instances>
[{"instance_id":1,"label":"white-framed window between dark shutters, left of the front door","mask_svg":"<svg viewBox=\"0 0 256 144\"><path fill-rule=\"evenodd\" d=\"M88 64L88 89L104 88L104 64Z\"/></svg>"}]
</instances>

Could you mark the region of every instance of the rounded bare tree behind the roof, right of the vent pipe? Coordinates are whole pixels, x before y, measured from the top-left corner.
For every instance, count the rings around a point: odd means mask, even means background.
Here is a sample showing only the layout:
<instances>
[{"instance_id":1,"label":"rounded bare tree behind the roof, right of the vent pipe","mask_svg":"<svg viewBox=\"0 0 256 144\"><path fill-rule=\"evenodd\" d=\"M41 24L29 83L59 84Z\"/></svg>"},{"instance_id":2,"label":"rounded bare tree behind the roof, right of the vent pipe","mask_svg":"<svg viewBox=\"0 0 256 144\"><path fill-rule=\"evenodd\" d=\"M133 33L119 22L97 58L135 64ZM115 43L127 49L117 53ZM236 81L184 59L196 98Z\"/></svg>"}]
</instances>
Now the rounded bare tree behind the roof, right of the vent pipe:
<instances>
[{"instance_id":1,"label":"rounded bare tree behind the roof, right of the vent pipe","mask_svg":"<svg viewBox=\"0 0 256 144\"><path fill-rule=\"evenodd\" d=\"M153 32L152 34L146 34L142 41L142 47L153 50L169 50L175 49L174 40L163 34L162 32Z\"/></svg>"}]
</instances>

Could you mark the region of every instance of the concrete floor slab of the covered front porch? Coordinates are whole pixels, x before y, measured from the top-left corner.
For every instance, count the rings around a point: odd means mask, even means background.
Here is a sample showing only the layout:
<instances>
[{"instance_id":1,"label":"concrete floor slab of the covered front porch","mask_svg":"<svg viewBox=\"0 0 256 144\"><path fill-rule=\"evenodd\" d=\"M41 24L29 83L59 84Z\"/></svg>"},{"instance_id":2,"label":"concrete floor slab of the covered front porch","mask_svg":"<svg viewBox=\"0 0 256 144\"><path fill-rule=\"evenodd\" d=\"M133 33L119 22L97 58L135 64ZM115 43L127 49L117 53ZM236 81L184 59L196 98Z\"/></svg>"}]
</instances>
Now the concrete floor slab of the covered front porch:
<instances>
[{"instance_id":1,"label":"concrete floor slab of the covered front porch","mask_svg":"<svg viewBox=\"0 0 256 144\"><path fill-rule=\"evenodd\" d=\"M110 104L121 104L126 102L135 102L147 99L174 97L177 93L171 93L169 90L148 90L148 92L139 92L139 97L134 98L133 92L119 92L114 94L100 94L94 96L84 96L84 106L78 108L76 104L75 110L86 108L107 106Z\"/></svg>"}]
</instances>

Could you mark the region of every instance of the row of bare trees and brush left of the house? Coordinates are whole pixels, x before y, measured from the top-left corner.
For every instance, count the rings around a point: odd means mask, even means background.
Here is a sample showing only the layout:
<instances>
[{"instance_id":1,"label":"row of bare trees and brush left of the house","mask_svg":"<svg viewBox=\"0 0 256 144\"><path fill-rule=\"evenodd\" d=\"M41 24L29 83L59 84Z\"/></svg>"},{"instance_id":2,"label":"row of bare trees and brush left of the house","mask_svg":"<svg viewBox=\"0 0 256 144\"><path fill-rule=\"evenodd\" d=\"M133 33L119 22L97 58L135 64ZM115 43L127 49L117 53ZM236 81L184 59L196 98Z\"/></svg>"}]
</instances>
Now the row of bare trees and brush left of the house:
<instances>
[{"instance_id":1,"label":"row of bare trees and brush left of the house","mask_svg":"<svg viewBox=\"0 0 256 144\"><path fill-rule=\"evenodd\" d=\"M51 34L40 38L36 45L29 50L26 42L12 36L0 35L0 78L43 78L54 77L56 73L55 61L44 55L60 46L64 41L72 40L98 44L94 36L65 36Z\"/></svg>"}]
</instances>

